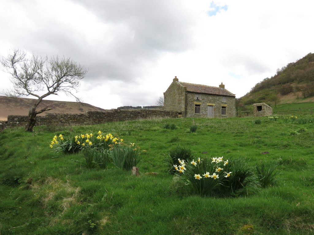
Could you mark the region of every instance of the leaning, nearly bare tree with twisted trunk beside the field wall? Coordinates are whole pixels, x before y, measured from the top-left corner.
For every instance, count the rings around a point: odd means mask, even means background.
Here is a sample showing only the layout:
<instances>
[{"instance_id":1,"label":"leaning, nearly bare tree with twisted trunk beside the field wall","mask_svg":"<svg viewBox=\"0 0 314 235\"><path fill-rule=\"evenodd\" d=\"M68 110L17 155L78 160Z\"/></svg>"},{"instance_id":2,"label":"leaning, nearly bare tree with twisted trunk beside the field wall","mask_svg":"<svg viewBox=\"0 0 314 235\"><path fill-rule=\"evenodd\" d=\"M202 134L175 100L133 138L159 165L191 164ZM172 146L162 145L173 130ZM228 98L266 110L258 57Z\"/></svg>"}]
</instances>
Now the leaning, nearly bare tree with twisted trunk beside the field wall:
<instances>
[{"instance_id":1,"label":"leaning, nearly bare tree with twisted trunk beside the field wall","mask_svg":"<svg viewBox=\"0 0 314 235\"><path fill-rule=\"evenodd\" d=\"M80 99L73 94L73 90L77 91L79 80L84 78L87 70L70 58L57 56L48 60L47 57L42 58L34 53L28 58L26 52L13 49L8 57L3 57L0 62L3 71L11 74L10 81L13 84L13 88L3 91L4 95L8 97L31 95L38 98L28 113L25 131L33 131L37 114L51 110L48 106L36 110L45 97L57 95L57 92L62 91L80 102Z\"/></svg>"}]
</instances>

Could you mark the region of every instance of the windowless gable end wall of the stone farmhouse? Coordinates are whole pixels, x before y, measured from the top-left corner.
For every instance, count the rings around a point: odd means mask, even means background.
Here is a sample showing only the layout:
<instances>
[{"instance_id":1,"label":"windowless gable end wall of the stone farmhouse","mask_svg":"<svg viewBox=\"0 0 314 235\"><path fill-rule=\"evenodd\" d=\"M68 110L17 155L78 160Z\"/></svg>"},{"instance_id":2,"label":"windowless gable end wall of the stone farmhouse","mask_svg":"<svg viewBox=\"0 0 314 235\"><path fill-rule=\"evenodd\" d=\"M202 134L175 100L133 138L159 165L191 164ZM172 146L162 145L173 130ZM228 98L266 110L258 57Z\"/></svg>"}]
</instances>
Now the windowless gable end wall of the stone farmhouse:
<instances>
[{"instance_id":1,"label":"windowless gable end wall of the stone farmhouse","mask_svg":"<svg viewBox=\"0 0 314 235\"><path fill-rule=\"evenodd\" d=\"M179 79L175 77L167 91L164 92L164 107L165 110L184 112L185 92L187 88L181 86L177 81L179 81Z\"/></svg>"}]
</instances>

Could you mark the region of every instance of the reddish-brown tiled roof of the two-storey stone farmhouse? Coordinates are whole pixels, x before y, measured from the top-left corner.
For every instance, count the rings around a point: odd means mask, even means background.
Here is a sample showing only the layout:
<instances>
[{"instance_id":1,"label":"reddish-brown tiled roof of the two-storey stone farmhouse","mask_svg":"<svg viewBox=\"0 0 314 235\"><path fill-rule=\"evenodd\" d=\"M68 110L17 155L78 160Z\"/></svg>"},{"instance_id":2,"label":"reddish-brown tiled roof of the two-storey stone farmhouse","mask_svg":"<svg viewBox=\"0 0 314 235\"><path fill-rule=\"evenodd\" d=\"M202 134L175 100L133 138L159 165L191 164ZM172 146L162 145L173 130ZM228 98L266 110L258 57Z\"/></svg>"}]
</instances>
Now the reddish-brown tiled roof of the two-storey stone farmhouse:
<instances>
[{"instance_id":1,"label":"reddish-brown tiled roof of the two-storey stone farmhouse","mask_svg":"<svg viewBox=\"0 0 314 235\"><path fill-rule=\"evenodd\" d=\"M190 92L236 97L235 94L232 94L230 91L226 90L225 88L193 84L193 83L187 83L187 82L181 82L181 81L178 81L178 83L180 83L181 86L186 87L187 91L190 91Z\"/></svg>"}]
</instances>

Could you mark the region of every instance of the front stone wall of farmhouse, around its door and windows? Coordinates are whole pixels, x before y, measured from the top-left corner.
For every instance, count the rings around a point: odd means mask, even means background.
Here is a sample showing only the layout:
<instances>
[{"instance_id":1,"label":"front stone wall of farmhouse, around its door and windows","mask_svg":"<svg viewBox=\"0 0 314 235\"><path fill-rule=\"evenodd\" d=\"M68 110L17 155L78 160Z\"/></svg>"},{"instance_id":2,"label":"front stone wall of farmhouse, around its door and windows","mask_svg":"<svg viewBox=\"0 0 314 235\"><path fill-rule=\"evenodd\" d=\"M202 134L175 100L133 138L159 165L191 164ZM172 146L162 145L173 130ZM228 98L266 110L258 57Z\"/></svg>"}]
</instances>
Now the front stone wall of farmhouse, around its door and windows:
<instances>
[{"instance_id":1,"label":"front stone wall of farmhouse, around its door and windows","mask_svg":"<svg viewBox=\"0 0 314 235\"><path fill-rule=\"evenodd\" d=\"M198 94L200 99L196 99L196 93L187 92L187 117L208 117L207 109L208 106L213 106L213 118L225 118L225 117L235 117L236 116L236 98L225 96L226 101L222 101L222 96L210 95L210 94ZM200 104L201 113L195 113L195 104ZM221 107L226 107L226 115L221 114Z\"/></svg>"}]
</instances>

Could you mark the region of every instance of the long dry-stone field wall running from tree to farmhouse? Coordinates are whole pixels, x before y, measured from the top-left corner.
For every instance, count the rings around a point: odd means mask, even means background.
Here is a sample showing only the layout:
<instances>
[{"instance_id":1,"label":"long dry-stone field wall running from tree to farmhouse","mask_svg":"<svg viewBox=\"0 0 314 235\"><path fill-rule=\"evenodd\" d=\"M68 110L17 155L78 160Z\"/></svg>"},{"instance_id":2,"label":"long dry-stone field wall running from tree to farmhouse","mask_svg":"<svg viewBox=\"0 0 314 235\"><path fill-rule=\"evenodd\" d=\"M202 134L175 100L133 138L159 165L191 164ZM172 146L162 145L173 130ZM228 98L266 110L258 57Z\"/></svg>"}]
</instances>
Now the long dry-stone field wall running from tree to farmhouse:
<instances>
[{"instance_id":1,"label":"long dry-stone field wall running from tree to farmhouse","mask_svg":"<svg viewBox=\"0 0 314 235\"><path fill-rule=\"evenodd\" d=\"M127 121L145 118L181 118L182 112L138 109L110 111L88 111L84 114L47 113L45 116L37 116L37 126L47 125L93 125L106 122ZM9 115L8 121L0 121L0 131L5 128L24 127L27 116Z\"/></svg>"}]
</instances>

